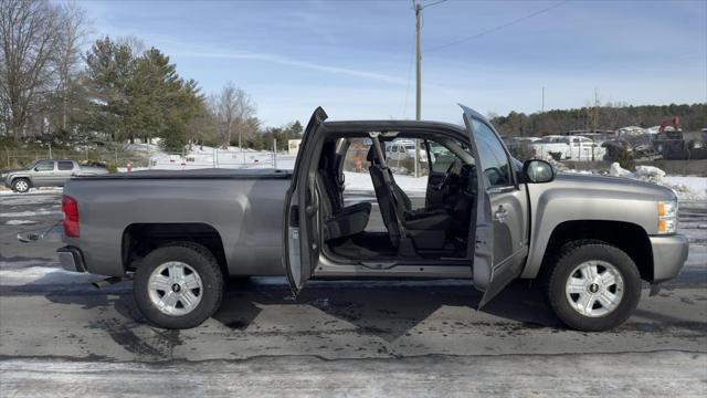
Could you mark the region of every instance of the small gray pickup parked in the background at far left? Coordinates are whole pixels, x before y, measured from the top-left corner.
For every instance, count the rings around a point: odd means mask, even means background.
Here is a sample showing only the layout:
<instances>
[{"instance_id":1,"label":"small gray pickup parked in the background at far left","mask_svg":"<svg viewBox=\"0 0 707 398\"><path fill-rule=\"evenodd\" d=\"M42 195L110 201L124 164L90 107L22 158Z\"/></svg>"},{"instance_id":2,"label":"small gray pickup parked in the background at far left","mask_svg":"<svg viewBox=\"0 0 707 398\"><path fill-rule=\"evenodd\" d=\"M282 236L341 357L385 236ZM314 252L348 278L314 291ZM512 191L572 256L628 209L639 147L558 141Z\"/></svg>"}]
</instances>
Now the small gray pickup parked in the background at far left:
<instances>
[{"instance_id":1,"label":"small gray pickup parked in the background at far left","mask_svg":"<svg viewBox=\"0 0 707 398\"><path fill-rule=\"evenodd\" d=\"M82 166L68 159L34 160L24 169L8 170L2 174L4 186L15 192L27 192L30 188L63 187L72 177L97 176L107 174L105 166L93 164Z\"/></svg>"}]
</instances>

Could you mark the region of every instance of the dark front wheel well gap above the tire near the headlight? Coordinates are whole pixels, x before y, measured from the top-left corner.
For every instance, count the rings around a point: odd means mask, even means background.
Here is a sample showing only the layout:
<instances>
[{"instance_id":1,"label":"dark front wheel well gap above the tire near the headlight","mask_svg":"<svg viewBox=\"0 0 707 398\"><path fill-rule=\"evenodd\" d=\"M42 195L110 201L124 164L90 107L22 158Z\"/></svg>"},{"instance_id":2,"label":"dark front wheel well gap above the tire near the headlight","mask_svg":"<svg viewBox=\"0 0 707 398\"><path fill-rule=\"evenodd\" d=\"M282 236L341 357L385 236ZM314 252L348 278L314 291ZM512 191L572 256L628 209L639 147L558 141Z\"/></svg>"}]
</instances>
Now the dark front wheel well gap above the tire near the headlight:
<instances>
[{"instance_id":1,"label":"dark front wheel well gap above the tire near the headlight","mask_svg":"<svg viewBox=\"0 0 707 398\"><path fill-rule=\"evenodd\" d=\"M653 250L645 230L630 222L621 221L566 221L552 230L545 250L540 273L551 266L566 243L576 240L598 240L624 251L639 268L641 279L653 281Z\"/></svg>"}]
</instances>

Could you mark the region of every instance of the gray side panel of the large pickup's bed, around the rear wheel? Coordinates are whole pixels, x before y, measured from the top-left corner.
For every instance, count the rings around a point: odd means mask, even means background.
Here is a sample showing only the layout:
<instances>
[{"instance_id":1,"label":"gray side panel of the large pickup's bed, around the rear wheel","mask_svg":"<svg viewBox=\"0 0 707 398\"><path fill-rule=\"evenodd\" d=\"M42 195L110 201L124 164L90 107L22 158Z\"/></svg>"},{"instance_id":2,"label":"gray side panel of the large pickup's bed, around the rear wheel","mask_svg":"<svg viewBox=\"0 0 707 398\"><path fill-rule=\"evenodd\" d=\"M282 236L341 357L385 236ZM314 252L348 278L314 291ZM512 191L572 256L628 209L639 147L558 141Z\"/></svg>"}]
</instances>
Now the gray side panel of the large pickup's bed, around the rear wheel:
<instances>
[{"instance_id":1,"label":"gray side panel of the large pickup's bed, around the rear wheel","mask_svg":"<svg viewBox=\"0 0 707 398\"><path fill-rule=\"evenodd\" d=\"M82 249L89 272L120 276L129 265L123 248L147 240L136 235L145 226L169 233L197 229L222 242L231 275L282 275L283 209L291 179L292 171L273 169L72 178L64 195L78 203L81 234L64 241Z\"/></svg>"}]
</instances>

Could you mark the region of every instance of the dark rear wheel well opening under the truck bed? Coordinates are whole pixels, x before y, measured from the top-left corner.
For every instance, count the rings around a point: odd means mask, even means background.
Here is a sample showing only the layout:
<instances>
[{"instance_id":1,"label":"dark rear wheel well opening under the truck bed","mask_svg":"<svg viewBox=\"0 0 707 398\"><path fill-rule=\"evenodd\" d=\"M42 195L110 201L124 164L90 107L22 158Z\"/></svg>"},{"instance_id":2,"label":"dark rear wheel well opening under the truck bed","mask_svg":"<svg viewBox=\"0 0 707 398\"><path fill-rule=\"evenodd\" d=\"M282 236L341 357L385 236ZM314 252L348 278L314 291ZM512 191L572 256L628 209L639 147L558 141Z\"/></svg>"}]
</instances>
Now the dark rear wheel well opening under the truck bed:
<instances>
[{"instance_id":1,"label":"dark rear wheel well opening under the truck bed","mask_svg":"<svg viewBox=\"0 0 707 398\"><path fill-rule=\"evenodd\" d=\"M184 223L134 223L123 232L123 266L135 271L145 255L169 242L194 242L207 248L228 275L228 262L223 241L211 226L199 222Z\"/></svg>"}]
</instances>

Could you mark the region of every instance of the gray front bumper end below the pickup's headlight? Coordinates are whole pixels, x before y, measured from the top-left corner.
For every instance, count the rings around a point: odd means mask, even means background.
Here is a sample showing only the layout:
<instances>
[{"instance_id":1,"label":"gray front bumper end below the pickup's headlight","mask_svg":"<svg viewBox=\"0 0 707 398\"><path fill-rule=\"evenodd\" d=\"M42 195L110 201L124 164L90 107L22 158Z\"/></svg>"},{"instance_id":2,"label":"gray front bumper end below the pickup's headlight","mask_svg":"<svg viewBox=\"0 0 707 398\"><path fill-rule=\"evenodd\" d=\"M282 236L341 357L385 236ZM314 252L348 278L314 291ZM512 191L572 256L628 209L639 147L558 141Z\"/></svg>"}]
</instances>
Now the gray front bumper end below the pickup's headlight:
<instances>
[{"instance_id":1,"label":"gray front bumper end below the pickup's headlight","mask_svg":"<svg viewBox=\"0 0 707 398\"><path fill-rule=\"evenodd\" d=\"M653 282L676 277L687 260L687 238L680 234L650 237L653 250Z\"/></svg>"}]
</instances>

